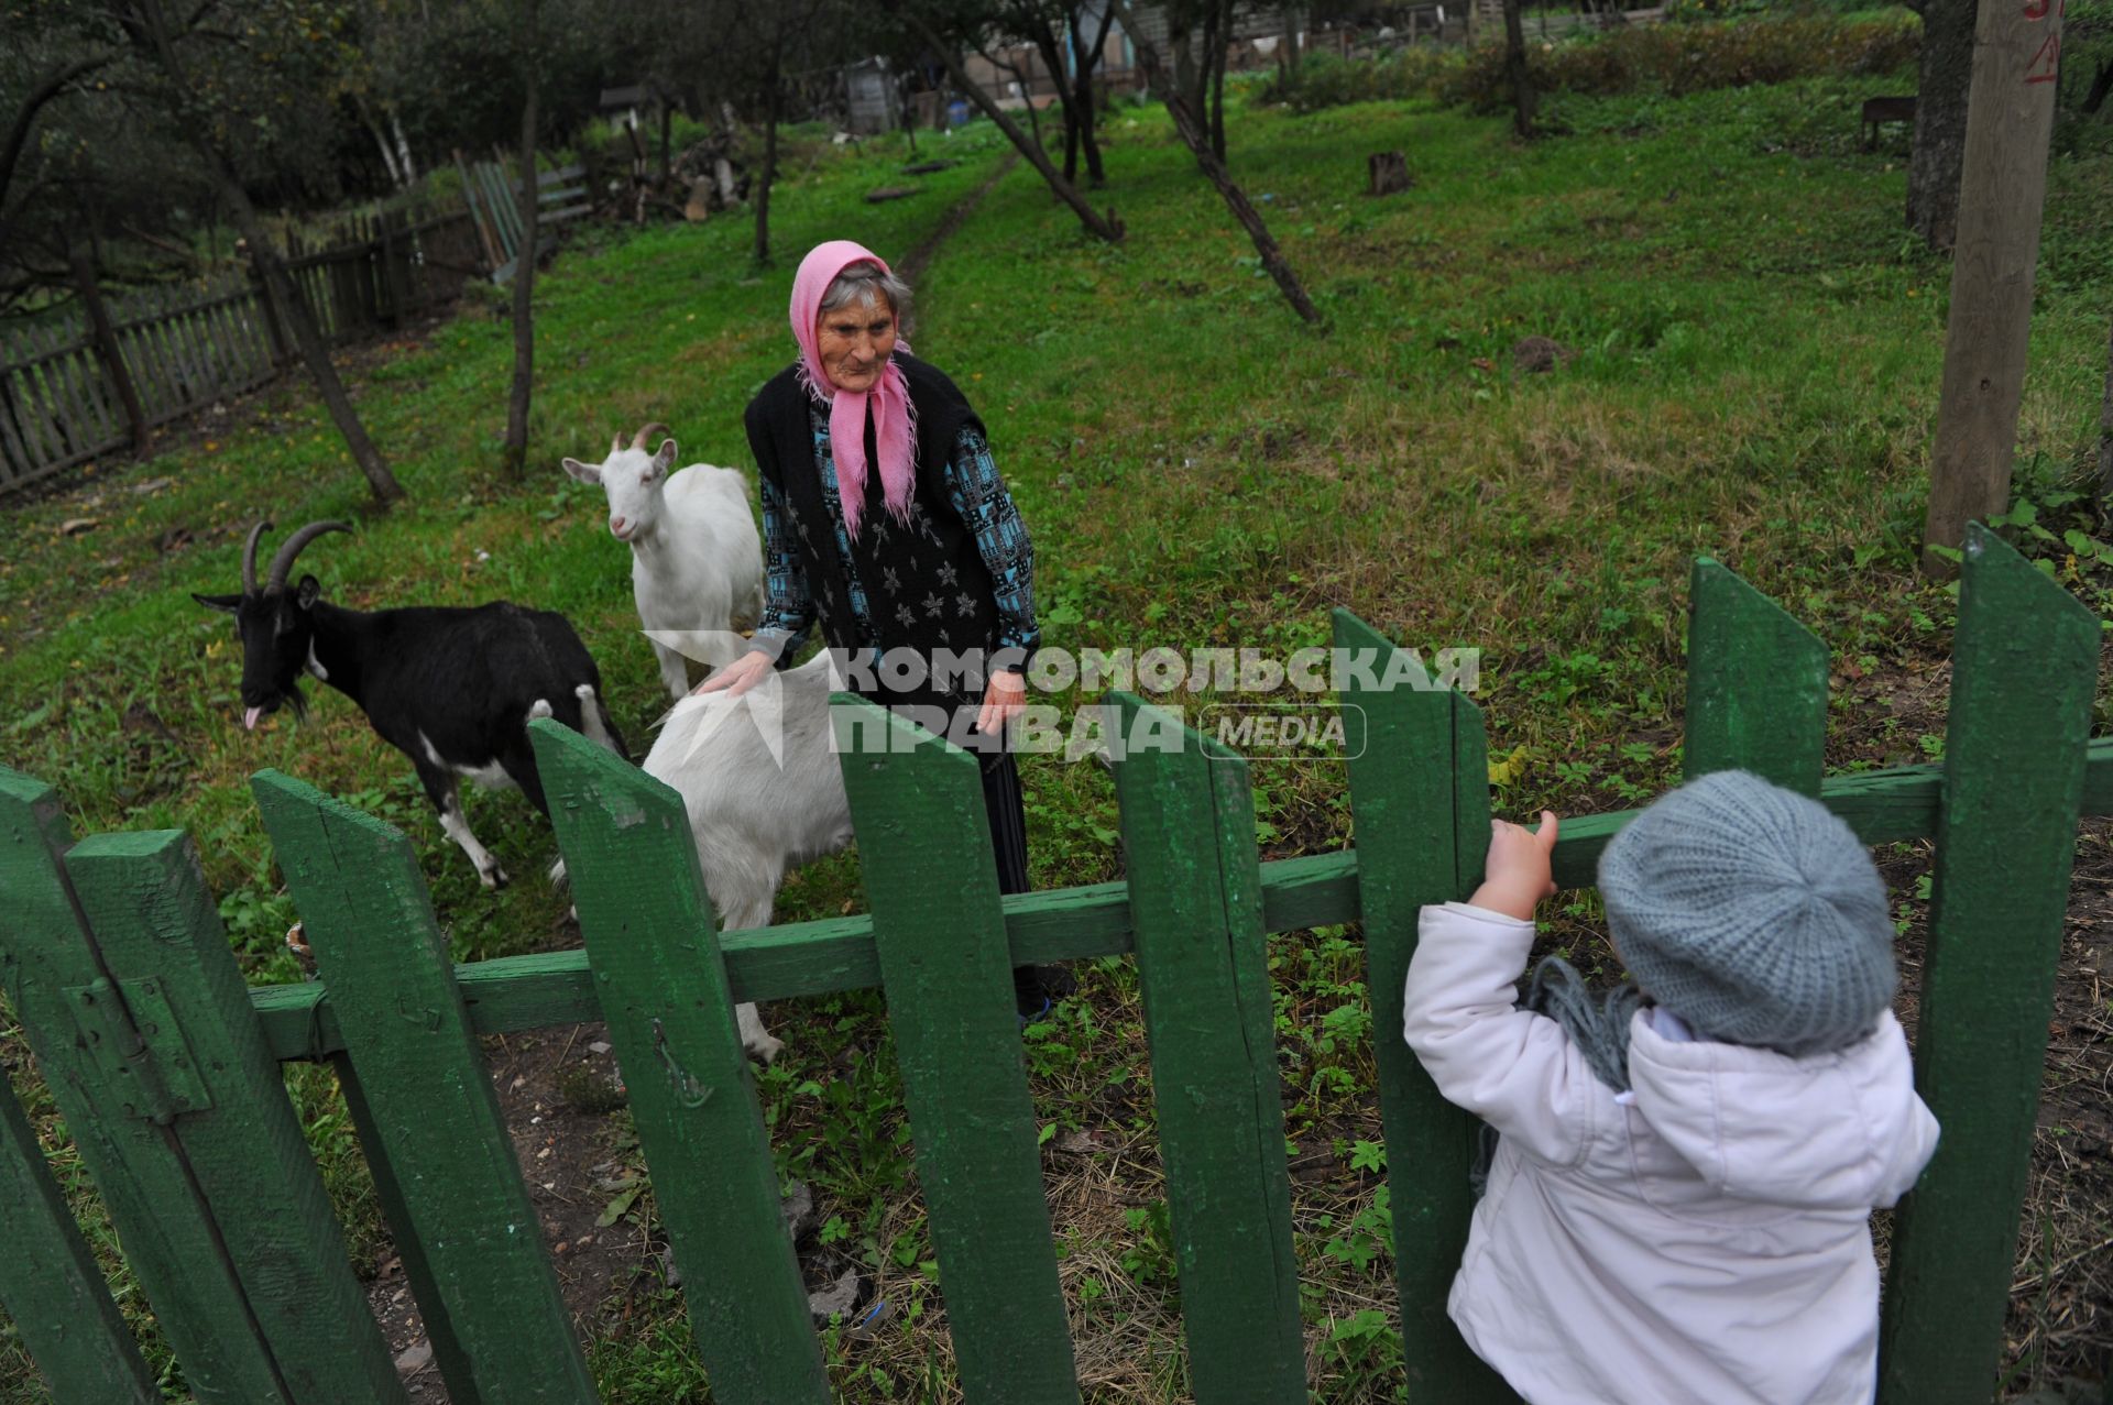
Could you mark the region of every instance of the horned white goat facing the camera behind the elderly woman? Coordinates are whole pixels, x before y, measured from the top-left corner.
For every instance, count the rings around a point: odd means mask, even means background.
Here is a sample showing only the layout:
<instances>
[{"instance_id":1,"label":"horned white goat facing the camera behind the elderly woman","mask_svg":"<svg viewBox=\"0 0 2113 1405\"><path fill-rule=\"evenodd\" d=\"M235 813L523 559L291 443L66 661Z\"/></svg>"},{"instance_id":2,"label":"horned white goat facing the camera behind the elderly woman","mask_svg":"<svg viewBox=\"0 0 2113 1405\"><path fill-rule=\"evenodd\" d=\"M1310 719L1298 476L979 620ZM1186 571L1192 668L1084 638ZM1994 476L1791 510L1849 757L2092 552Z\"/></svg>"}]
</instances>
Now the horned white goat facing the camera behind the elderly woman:
<instances>
[{"instance_id":1,"label":"horned white goat facing the camera behind the elderly woman","mask_svg":"<svg viewBox=\"0 0 2113 1405\"><path fill-rule=\"evenodd\" d=\"M752 625L763 613L763 541L748 480L710 463L670 473L674 439L644 448L655 429L668 431L647 425L630 448L611 439L609 458L566 458L564 471L609 494L609 532L632 549L638 621L653 640L668 697L682 699L685 657L718 668L748 649L735 625Z\"/></svg>"}]
</instances>

